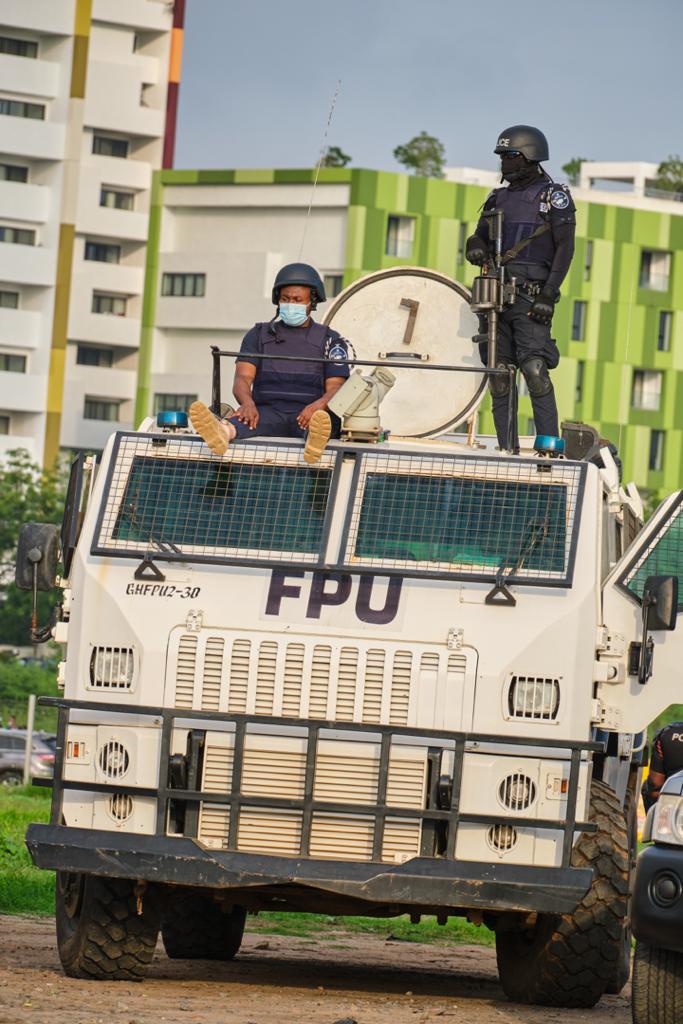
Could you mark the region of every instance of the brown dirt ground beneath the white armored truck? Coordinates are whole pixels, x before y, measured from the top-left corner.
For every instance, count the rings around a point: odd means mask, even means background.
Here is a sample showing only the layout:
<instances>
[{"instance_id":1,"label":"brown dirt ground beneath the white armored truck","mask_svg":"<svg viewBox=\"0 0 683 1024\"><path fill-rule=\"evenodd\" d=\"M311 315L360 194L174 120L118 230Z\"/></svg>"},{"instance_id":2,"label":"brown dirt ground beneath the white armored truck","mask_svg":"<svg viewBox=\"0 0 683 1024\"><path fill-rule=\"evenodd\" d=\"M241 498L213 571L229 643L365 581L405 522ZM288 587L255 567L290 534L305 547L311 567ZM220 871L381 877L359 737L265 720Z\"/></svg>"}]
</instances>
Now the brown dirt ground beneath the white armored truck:
<instances>
[{"instance_id":1,"label":"brown dirt ground beneath the white armored truck","mask_svg":"<svg viewBox=\"0 0 683 1024\"><path fill-rule=\"evenodd\" d=\"M506 1000L481 946L400 942L340 931L325 940L248 932L231 964L169 961L148 979L61 974L54 922L0 916L0 1022L31 1024L629 1024L629 990L595 1010Z\"/></svg>"}]
</instances>

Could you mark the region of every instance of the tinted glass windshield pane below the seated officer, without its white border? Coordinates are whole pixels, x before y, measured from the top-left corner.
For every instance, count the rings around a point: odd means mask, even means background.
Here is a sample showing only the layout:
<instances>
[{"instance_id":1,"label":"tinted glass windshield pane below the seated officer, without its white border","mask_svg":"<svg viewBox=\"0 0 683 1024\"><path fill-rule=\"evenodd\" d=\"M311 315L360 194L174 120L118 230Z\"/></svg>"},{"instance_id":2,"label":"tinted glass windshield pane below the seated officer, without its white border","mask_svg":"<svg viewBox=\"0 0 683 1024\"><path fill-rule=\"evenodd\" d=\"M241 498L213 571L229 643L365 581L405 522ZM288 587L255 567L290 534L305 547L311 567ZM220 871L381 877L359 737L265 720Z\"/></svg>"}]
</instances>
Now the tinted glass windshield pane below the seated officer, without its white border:
<instances>
[{"instance_id":1,"label":"tinted glass windshield pane below the seated officer, without its white border","mask_svg":"<svg viewBox=\"0 0 683 1024\"><path fill-rule=\"evenodd\" d=\"M111 542L151 542L182 555L265 551L317 553L330 470L134 456Z\"/></svg>"}]
</instances>

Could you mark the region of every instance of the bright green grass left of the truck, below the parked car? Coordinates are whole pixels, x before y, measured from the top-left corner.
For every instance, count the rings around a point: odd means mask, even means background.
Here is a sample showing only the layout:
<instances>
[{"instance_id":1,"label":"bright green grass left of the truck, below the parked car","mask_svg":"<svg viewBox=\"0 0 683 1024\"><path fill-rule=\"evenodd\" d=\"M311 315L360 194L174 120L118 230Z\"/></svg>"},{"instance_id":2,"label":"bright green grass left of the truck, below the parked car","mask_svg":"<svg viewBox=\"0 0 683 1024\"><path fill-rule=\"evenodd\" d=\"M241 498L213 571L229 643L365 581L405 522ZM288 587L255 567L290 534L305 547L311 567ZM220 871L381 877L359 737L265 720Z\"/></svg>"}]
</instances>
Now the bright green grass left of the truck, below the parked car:
<instances>
[{"instance_id":1,"label":"bright green grass left of the truck, below the parked car","mask_svg":"<svg viewBox=\"0 0 683 1024\"><path fill-rule=\"evenodd\" d=\"M51 791L0 787L0 913L54 913L54 873L33 866L24 837L47 821Z\"/></svg>"}]
</instances>

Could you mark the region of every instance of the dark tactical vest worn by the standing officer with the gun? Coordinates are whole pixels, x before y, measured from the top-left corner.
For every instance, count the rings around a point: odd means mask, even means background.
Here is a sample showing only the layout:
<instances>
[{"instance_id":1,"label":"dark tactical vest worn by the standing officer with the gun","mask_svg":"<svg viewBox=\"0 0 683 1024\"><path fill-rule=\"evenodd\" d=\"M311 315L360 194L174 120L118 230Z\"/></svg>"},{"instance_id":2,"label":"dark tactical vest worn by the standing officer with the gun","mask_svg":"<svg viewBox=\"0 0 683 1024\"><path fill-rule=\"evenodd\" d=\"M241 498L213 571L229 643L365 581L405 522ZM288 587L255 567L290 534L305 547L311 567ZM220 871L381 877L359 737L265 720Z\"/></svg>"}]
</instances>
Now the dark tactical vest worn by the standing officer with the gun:
<instances>
[{"instance_id":1,"label":"dark tactical vest worn by the standing officer with the gun","mask_svg":"<svg viewBox=\"0 0 683 1024\"><path fill-rule=\"evenodd\" d=\"M548 178L535 181L528 188L496 191L496 209L503 211L503 252L516 246L548 220L548 197L553 182ZM546 209L544 209L544 207ZM508 272L545 281L555 255L552 231L529 242L516 259L508 264Z\"/></svg>"}]
</instances>

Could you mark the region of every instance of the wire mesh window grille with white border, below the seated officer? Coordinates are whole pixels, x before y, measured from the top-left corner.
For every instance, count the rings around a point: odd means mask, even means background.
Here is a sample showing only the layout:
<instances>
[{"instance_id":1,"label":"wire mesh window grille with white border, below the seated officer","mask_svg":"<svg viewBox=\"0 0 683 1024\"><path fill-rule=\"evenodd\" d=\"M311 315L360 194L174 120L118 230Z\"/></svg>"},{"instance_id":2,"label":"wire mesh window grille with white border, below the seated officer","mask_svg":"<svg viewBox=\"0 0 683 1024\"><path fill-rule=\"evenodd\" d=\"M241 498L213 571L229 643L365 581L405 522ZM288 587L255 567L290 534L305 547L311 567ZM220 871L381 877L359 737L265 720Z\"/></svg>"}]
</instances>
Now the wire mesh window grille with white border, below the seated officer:
<instances>
[{"instance_id":1,"label":"wire mesh window grille with white border, below the seated officer","mask_svg":"<svg viewBox=\"0 0 683 1024\"><path fill-rule=\"evenodd\" d=\"M95 550L316 564L334 462L326 453L309 468L287 444L216 458L190 438L120 435Z\"/></svg>"}]
</instances>

